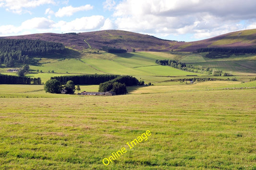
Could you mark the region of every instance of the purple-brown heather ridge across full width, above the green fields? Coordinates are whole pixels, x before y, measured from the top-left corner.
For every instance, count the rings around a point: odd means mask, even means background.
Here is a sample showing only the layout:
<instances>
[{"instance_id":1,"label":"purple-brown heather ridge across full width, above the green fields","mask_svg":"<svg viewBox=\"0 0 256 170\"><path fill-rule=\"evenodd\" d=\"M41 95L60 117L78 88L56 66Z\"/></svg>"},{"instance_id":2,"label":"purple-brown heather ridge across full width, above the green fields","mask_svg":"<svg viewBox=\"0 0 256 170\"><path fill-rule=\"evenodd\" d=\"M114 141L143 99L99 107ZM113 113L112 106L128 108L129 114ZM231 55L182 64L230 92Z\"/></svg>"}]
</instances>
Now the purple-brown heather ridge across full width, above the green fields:
<instances>
[{"instance_id":1,"label":"purple-brown heather ridge across full width, above the green fields","mask_svg":"<svg viewBox=\"0 0 256 170\"><path fill-rule=\"evenodd\" d=\"M5 36L10 39L39 39L63 43L66 47L85 50L102 49L104 46L136 51L187 51L202 48L256 48L256 29L236 31L200 41L178 42L164 40L155 36L143 35L122 30L103 30L68 34L31 34L23 36Z\"/></svg>"}]
</instances>

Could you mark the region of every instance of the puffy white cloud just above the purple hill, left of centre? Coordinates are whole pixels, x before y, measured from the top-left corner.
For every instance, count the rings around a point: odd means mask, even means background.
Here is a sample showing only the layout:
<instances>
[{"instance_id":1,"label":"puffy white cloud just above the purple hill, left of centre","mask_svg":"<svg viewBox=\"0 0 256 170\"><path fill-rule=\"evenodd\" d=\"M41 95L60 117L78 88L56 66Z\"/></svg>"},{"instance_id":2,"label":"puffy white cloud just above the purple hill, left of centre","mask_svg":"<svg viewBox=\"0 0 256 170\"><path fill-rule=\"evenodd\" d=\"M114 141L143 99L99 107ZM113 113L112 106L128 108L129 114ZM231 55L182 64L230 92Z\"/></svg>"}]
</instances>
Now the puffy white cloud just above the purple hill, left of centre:
<instances>
[{"instance_id":1,"label":"puffy white cloud just above the purple hill, left of centre","mask_svg":"<svg viewBox=\"0 0 256 170\"><path fill-rule=\"evenodd\" d=\"M104 24L104 16L93 15L90 17L76 18L71 22L60 21L53 27L63 32L84 32L99 29Z\"/></svg>"}]
</instances>

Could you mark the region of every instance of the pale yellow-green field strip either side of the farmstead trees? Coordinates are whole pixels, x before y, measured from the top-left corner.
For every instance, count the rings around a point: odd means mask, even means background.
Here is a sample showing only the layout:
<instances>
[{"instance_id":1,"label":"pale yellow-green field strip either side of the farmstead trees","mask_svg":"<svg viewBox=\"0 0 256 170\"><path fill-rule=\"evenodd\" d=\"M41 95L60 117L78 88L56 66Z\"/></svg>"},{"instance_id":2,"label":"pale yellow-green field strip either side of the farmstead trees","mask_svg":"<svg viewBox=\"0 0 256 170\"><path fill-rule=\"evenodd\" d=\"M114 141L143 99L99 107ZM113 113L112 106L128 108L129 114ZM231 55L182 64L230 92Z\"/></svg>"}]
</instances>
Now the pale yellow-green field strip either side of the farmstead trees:
<instances>
[{"instance_id":1,"label":"pale yellow-green field strip either side of the farmstead trees","mask_svg":"<svg viewBox=\"0 0 256 170\"><path fill-rule=\"evenodd\" d=\"M224 88L253 88L256 81L242 83L239 81L208 81L185 84L171 82L150 86L127 86L129 94L156 94L189 91L220 90ZM80 92L97 92L98 85L80 85ZM77 91L75 91L77 94ZM44 91L44 85L0 85L0 97L26 97L26 98L60 98L60 97L83 97L77 95L50 94Z\"/></svg>"}]
</instances>

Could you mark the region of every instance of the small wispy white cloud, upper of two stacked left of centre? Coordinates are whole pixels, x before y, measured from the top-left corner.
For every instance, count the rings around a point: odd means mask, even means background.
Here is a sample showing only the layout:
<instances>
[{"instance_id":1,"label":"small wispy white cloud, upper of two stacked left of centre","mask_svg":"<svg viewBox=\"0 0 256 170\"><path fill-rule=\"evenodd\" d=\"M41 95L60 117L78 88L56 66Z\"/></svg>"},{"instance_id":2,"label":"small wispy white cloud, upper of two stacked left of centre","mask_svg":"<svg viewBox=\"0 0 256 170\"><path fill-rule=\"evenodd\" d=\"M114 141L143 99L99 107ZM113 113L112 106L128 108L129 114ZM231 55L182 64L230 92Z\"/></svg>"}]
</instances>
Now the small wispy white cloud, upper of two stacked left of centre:
<instances>
[{"instance_id":1,"label":"small wispy white cloud, upper of two stacked left of centre","mask_svg":"<svg viewBox=\"0 0 256 170\"><path fill-rule=\"evenodd\" d=\"M88 4L80 7L67 6L67 7L60 8L59 11L55 13L55 16L56 17L72 16L73 13L75 12L88 11L92 9L93 9L93 6Z\"/></svg>"}]
</instances>

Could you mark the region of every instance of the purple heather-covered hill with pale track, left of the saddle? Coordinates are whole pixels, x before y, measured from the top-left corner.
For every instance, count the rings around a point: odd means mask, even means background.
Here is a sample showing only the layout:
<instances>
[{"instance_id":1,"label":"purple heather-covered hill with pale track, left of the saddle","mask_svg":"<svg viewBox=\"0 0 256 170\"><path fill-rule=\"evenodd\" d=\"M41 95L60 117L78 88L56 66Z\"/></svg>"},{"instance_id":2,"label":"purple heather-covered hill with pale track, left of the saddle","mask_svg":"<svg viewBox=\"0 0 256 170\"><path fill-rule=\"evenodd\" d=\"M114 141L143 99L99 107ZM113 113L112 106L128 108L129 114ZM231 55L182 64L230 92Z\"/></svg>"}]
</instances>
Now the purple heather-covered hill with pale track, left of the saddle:
<instances>
[{"instance_id":1,"label":"purple heather-covered hill with pale track, left of the saddle","mask_svg":"<svg viewBox=\"0 0 256 170\"><path fill-rule=\"evenodd\" d=\"M163 40L154 36L120 30L104 30L78 34L44 33L24 36L7 36L2 38L53 41L63 43L66 47L76 50L91 48L102 49L104 46L109 46L128 49L128 51L132 51L132 49L136 49L137 51L169 51L171 46L183 44L183 42Z\"/></svg>"}]
</instances>

